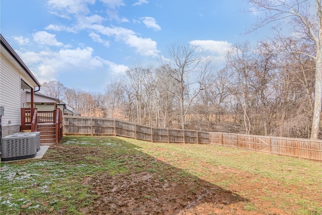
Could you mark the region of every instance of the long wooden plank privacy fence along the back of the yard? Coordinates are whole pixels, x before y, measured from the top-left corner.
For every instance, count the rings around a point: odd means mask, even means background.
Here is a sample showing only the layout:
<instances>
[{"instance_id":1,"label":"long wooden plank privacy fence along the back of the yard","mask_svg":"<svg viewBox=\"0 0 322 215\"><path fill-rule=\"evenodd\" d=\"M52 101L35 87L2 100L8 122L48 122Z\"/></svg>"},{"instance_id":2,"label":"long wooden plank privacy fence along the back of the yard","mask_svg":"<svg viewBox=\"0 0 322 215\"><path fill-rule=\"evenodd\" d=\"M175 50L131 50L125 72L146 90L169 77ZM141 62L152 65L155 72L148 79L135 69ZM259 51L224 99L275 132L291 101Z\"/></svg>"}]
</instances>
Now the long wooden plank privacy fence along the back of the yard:
<instances>
[{"instance_id":1,"label":"long wooden plank privacy fence along the back of the yard","mask_svg":"<svg viewBox=\"0 0 322 215\"><path fill-rule=\"evenodd\" d=\"M156 128L93 117L64 116L64 135L115 135L151 142L212 144L322 161L322 140Z\"/></svg>"}]
</instances>

